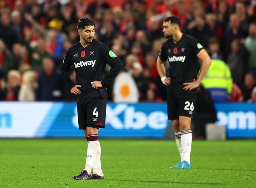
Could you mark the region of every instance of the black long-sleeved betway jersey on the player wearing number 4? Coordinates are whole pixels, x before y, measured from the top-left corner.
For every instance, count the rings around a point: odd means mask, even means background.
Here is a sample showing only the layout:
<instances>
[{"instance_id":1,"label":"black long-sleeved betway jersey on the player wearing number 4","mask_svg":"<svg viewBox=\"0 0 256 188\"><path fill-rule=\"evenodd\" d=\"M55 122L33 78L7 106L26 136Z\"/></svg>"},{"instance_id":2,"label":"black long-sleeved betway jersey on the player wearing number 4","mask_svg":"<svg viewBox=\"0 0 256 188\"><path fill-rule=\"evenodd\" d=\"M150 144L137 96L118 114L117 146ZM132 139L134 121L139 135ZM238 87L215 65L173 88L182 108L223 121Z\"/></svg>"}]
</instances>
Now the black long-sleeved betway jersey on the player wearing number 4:
<instances>
[{"instance_id":1,"label":"black long-sleeved betway jersey on the player wearing number 4","mask_svg":"<svg viewBox=\"0 0 256 188\"><path fill-rule=\"evenodd\" d=\"M110 65L109 73L103 78L106 63ZM81 91L78 99L86 97L107 97L106 86L114 80L122 68L122 62L104 43L95 39L83 47L79 42L71 46L60 66L62 78L71 90L74 87L69 78L69 68L73 65L76 75L76 84ZM92 81L101 81L102 87L93 89Z\"/></svg>"}]
</instances>

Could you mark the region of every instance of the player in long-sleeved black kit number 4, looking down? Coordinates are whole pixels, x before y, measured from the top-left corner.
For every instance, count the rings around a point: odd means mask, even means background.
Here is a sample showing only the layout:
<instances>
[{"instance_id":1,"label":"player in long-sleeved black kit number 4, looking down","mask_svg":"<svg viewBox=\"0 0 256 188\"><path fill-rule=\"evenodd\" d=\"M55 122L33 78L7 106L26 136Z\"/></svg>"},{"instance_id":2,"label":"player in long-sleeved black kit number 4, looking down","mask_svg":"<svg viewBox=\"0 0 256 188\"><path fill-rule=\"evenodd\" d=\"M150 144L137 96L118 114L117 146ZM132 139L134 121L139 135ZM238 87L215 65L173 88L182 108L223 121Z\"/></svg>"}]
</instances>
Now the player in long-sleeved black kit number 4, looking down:
<instances>
[{"instance_id":1,"label":"player in long-sleeved black kit number 4, looking down","mask_svg":"<svg viewBox=\"0 0 256 188\"><path fill-rule=\"evenodd\" d=\"M95 24L91 19L81 18L77 29L80 41L68 49L60 67L66 86L71 93L77 95L78 125L79 129L84 130L88 141L85 168L73 179L104 179L98 131L99 128L105 128L106 86L114 80L123 65L105 44L93 39ZM111 68L103 78L106 63ZM76 74L75 86L68 74L71 65Z\"/></svg>"}]
</instances>

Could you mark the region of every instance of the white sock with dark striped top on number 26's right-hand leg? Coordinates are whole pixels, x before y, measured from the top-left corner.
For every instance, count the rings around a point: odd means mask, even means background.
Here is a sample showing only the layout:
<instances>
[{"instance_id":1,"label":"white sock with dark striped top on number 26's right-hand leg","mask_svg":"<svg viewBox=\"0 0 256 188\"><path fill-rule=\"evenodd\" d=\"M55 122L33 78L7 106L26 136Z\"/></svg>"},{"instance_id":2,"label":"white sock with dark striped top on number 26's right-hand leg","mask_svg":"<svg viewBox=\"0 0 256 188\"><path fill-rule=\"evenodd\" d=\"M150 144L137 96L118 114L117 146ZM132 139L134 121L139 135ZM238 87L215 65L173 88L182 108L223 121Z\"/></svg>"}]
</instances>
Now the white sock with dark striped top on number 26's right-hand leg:
<instances>
[{"instance_id":1,"label":"white sock with dark striped top on number 26's right-hand leg","mask_svg":"<svg viewBox=\"0 0 256 188\"><path fill-rule=\"evenodd\" d=\"M183 160L190 164L190 153L192 144L192 131L191 129L181 131L181 144Z\"/></svg>"}]
</instances>

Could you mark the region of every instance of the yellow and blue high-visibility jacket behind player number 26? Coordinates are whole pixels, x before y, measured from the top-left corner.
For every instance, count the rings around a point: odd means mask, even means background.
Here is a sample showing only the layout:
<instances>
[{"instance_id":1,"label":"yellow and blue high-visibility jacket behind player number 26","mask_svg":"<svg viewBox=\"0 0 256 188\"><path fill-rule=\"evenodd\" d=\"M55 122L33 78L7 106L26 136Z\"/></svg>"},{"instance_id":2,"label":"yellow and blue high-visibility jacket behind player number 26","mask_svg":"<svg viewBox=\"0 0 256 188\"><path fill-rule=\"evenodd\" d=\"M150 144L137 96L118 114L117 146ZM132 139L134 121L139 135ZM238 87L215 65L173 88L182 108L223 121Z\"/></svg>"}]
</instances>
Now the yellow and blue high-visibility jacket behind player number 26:
<instances>
[{"instance_id":1,"label":"yellow and blue high-visibility jacket behind player number 26","mask_svg":"<svg viewBox=\"0 0 256 188\"><path fill-rule=\"evenodd\" d=\"M222 60L212 59L212 64L202 81L202 85L211 93L213 101L229 101L232 83L229 66Z\"/></svg>"}]
</instances>

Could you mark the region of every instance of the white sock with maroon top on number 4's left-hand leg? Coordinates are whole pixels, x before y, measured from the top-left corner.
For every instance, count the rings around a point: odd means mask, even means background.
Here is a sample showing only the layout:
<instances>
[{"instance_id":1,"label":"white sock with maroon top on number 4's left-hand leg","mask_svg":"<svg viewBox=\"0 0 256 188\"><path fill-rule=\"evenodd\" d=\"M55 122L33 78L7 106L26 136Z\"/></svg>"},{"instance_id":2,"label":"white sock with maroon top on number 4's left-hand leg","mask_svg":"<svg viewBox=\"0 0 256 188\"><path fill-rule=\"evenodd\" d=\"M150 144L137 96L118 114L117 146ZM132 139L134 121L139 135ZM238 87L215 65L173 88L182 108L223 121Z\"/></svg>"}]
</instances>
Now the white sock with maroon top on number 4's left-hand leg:
<instances>
[{"instance_id":1,"label":"white sock with maroon top on number 4's left-hand leg","mask_svg":"<svg viewBox=\"0 0 256 188\"><path fill-rule=\"evenodd\" d=\"M87 147L87 156L86 156L86 164L84 170L86 170L89 174L92 171L92 165L95 162L96 152L98 150L99 140L98 135L89 135L87 137L88 147Z\"/></svg>"}]
</instances>

